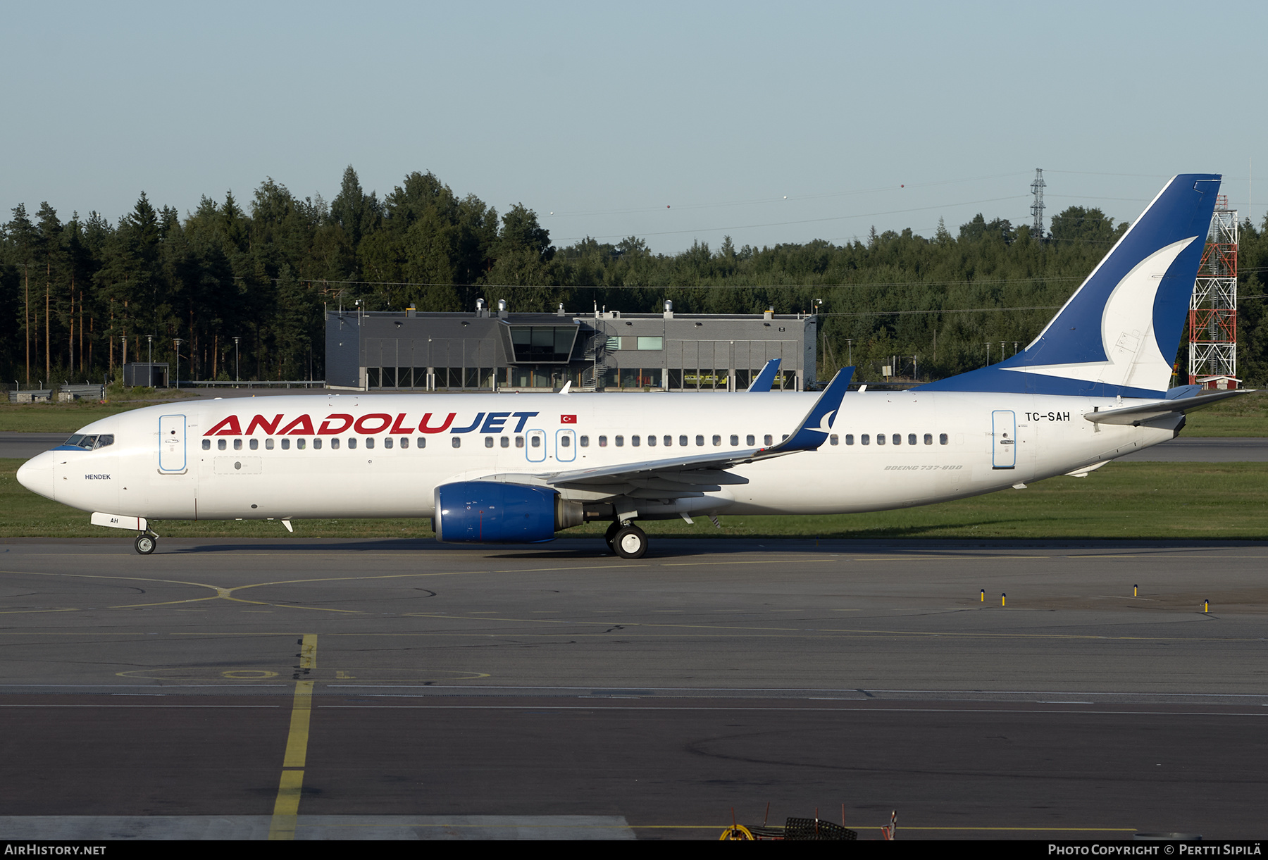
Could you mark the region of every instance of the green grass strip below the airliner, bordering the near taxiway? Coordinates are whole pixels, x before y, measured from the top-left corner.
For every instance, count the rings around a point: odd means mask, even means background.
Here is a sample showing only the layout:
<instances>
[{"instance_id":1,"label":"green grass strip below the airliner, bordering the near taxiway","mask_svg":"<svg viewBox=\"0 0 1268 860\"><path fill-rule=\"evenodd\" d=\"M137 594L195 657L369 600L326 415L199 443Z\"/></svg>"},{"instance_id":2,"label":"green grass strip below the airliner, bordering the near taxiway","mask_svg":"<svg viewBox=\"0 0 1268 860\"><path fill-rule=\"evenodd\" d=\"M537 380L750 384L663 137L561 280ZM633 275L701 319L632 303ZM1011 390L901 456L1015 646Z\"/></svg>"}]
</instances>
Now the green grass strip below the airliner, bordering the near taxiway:
<instances>
[{"instance_id":1,"label":"green grass strip below the airliner, bordering the near taxiway","mask_svg":"<svg viewBox=\"0 0 1268 860\"><path fill-rule=\"evenodd\" d=\"M22 460L0 459L0 538L124 538L91 526L89 515L28 491L14 477ZM875 514L721 516L639 523L648 534L696 538L1268 538L1268 463L1111 463L1085 478L1050 478L1026 490ZM560 537L598 535L591 523ZM430 538L427 520L295 520L297 538ZM276 521L164 521L174 538L288 538Z\"/></svg>"}]
</instances>

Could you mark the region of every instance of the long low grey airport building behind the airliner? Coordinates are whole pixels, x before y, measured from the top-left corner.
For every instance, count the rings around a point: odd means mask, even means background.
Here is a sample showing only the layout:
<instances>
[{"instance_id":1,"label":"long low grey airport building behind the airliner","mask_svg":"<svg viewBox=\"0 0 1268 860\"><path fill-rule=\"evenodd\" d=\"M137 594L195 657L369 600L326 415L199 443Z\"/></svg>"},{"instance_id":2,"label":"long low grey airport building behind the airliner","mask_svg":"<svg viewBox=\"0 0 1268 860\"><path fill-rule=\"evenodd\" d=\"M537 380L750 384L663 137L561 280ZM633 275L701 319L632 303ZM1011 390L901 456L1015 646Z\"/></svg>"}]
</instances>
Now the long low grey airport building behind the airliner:
<instances>
[{"instance_id":1,"label":"long low grey airport building behind the airliner","mask_svg":"<svg viewBox=\"0 0 1268 860\"><path fill-rule=\"evenodd\" d=\"M815 379L814 315L327 311L326 384L361 391L776 391Z\"/></svg>"}]
</instances>

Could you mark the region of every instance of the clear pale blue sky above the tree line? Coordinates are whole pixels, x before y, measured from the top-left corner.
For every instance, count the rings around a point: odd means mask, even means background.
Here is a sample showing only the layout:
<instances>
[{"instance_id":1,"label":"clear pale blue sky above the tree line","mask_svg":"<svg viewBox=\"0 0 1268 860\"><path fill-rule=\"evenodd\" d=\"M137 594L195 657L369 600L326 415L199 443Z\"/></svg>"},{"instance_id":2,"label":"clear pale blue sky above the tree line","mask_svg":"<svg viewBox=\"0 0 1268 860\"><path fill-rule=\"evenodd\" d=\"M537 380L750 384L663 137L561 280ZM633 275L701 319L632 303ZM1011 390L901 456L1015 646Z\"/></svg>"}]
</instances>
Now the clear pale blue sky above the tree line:
<instances>
[{"instance_id":1,"label":"clear pale blue sky above the tree line","mask_svg":"<svg viewBox=\"0 0 1268 860\"><path fill-rule=\"evenodd\" d=\"M1268 6L1224 6L10 4L0 218L142 190L184 213L265 176L330 200L349 164L664 252L1028 223L1035 167L1049 218L1134 218L1182 171L1245 214Z\"/></svg>"}]
</instances>

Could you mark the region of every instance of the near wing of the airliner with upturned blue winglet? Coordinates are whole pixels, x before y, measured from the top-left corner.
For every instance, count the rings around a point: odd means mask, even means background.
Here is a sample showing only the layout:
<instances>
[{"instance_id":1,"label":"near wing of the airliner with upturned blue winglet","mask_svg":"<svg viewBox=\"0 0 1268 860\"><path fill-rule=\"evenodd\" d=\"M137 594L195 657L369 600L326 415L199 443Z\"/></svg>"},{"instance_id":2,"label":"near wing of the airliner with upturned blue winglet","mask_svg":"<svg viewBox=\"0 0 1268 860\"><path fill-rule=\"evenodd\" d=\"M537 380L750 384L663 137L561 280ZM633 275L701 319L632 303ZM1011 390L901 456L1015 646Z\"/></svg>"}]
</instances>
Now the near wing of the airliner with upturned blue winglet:
<instances>
[{"instance_id":1,"label":"near wing of the airliner with upturned blue winglet","mask_svg":"<svg viewBox=\"0 0 1268 860\"><path fill-rule=\"evenodd\" d=\"M787 439L770 448L743 448L708 454L692 454L637 463L619 463L588 469L571 469L534 476L555 487L600 492L635 498L682 498L716 492L721 485L748 483L748 478L730 474L742 463L784 457L804 450L817 450L828 438L828 430L841 408L841 400L850 388L853 368L843 368L806 412ZM500 479L514 479L501 476Z\"/></svg>"}]
</instances>

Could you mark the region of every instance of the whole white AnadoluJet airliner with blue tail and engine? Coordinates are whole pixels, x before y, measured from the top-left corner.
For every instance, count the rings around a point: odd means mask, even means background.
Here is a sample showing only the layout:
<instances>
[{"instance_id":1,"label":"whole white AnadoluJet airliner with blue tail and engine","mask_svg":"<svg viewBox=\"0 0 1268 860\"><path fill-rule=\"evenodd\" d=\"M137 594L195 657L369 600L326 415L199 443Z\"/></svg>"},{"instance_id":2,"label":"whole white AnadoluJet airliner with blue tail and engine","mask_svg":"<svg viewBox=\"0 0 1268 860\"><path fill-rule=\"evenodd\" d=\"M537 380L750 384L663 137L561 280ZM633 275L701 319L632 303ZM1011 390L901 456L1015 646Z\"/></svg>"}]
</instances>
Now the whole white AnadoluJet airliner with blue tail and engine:
<instances>
[{"instance_id":1,"label":"whole white AnadoluJet airliner with blue tail and engine","mask_svg":"<svg viewBox=\"0 0 1268 860\"><path fill-rule=\"evenodd\" d=\"M1239 393L1168 389L1219 186L1173 178L1023 351L910 391L851 392L847 368L800 394L194 401L95 421L18 479L136 530L143 554L153 520L422 516L454 543L610 520L612 551L639 558L639 520L875 511L1083 476Z\"/></svg>"}]
</instances>

